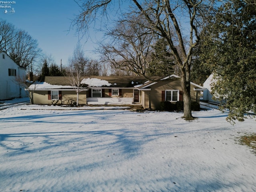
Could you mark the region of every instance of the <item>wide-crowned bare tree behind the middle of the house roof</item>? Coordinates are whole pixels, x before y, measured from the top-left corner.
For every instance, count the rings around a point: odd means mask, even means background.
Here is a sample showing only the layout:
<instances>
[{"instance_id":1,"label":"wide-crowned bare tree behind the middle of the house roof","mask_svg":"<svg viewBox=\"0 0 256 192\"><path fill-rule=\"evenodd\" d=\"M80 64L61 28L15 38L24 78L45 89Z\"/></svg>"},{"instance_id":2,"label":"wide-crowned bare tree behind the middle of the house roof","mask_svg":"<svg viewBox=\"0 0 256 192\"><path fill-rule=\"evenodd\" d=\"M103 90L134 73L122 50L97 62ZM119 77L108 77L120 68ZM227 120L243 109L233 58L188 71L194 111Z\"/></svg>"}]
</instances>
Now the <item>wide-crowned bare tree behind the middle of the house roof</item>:
<instances>
[{"instance_id":1,"label":"wide-crowned bare tree behind the middle of the house roof","mask_svg":"<svg viewBox=\"0 0 256 192\"><path fill-rule=\"evenodd\" d=\"M104 62L108 62L117 71L133 72L146 76L151 62L153 35L140 23L147 22L135 15L119 20L116 26L106 33L110 43L101 44L99 53Z\"/></svg>"}]
</instances>

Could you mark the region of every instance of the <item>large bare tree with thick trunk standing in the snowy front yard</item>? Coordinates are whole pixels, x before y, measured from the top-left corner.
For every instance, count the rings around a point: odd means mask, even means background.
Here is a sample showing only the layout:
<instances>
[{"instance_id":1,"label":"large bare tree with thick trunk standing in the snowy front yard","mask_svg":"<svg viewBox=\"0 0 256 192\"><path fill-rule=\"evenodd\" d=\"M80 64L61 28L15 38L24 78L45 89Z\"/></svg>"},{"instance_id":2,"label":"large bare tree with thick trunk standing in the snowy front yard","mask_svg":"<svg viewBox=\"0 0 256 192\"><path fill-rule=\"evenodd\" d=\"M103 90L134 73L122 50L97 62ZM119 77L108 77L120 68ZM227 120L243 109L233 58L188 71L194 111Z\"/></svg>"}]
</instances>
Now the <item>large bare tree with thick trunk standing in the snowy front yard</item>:
<instances>
[{"instance_id":1,"label":"large bare tree with thick trunk standing in the snowy front yard","mask_svg":"<svg viewBox=\"0 0 256 192\"><path fill-rule=\"evenodd\" d=\"M81 13L73 24L80 32L87 32L97 14L108 15L108 6L115 0L84 0ZM119 1L118 1L119 2ZM180 68L180 82L184 101L184 118L193 119L190 98L190 67L192 53L200 41L199 32L204 18L211 13L214 0L132 0L132 10L147 20L143 28L165 38L175 63ZM113 3L114 4L114 3Z\"/></svg>"}]
</instances>

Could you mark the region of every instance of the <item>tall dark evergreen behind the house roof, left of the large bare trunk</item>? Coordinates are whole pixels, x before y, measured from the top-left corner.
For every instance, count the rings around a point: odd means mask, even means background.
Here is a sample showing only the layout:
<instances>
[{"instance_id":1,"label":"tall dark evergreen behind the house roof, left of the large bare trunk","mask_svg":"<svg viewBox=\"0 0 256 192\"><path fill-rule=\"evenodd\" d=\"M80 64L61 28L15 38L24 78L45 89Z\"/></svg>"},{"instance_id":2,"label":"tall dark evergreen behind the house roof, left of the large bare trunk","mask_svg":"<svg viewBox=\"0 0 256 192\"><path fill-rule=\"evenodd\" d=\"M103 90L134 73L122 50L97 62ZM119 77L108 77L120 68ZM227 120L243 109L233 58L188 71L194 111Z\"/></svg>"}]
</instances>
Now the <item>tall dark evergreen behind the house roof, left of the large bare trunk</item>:
<instances>
[{"instance_id":1,"label":"tall dark evergreen behind the house roof, left of the large bare trunk","mask_svg":"<svg viewBox=\"0 0 256 192\"><path fill-rule=\"evenodd\" d=\"M168 43L164 38L157 40L153 46L154 52L151 54L152 62L150 62L147 73L148 76L168 76L174 73L174 60Z\"/></svg>"}]
</instances>

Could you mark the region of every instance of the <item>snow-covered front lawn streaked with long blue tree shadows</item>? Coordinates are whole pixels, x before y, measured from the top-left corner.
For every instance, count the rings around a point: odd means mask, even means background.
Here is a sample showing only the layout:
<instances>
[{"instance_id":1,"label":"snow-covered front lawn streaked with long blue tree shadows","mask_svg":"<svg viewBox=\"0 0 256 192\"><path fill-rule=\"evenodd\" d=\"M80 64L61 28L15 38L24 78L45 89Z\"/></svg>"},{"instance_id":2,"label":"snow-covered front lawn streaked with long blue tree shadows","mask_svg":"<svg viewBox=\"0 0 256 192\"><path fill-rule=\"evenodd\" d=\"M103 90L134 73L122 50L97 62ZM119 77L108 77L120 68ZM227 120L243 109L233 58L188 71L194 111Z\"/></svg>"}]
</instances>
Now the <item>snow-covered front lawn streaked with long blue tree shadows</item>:
<instances>
[{"instance_id":1,"label":"snow-covered front lawn streaked with long blue tree shadows","mask_svg":"<svg viewBox=\"0 0 256 192\"><path fill-rule=\"evenodd\" d=\"M256 156L238 144L255 119L232 126L216 109L191 122L176 112L68 109L0 110L0 191L256 191Z\"/></svg>"}]
</instances>

